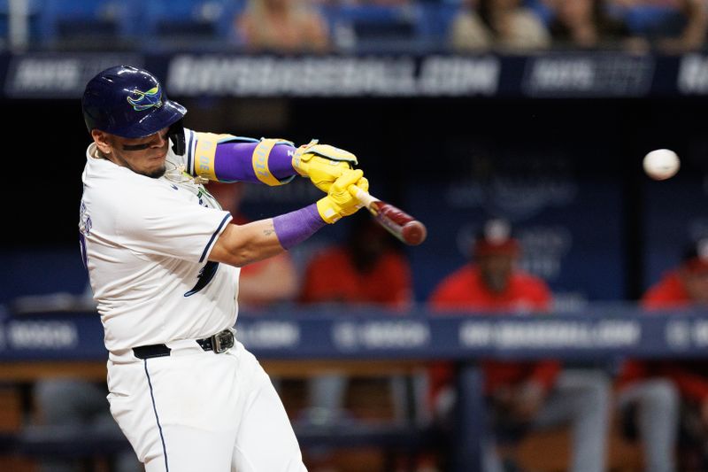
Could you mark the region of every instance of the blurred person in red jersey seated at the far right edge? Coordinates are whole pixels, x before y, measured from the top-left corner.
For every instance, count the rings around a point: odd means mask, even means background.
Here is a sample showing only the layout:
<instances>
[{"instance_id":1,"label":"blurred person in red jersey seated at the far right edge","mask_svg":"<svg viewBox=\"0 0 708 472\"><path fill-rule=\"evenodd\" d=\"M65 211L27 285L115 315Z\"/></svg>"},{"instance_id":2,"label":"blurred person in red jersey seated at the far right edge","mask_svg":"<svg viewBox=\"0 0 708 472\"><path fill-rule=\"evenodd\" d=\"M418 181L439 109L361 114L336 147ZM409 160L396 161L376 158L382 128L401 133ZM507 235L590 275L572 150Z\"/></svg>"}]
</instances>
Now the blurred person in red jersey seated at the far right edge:
<instances>
[{"instance_id":1,"label":"blurred person in red jersey seated at the far right edge","mask_svg":"<svg viewBox=\"0 0 708 472\"><path fill-rule=\"evenodd\" d=\"M689 244L681 264L668 271L646 291L642 306L649 311L661 310L668 313L672 310L708 308L708 238ZM657 453L674 453L676 430L681 424L678 405L681 402L684 430L688 433L689 440L696 444L696 447L680 454L681 461L684 462L681 468L708 470L706 360L628 360L620 373L619 385L620 401L623 399L622 395L627 395L627 391L631 392L635 385L649 385L654 391L653 394L648 391L644 403L638 405L643 406L644 411L636 411L640 436L650 439L653 435L656 439L647 441L648 459ZM652 398L653 405L648 403ZM671 436L667 436L669 433ZM661 436L665 437L667 445L661 445ZM669 446L670 451L666 451ZM650 448L656 448L658 451L650 452Z\"/></svg>"}]
</instances>

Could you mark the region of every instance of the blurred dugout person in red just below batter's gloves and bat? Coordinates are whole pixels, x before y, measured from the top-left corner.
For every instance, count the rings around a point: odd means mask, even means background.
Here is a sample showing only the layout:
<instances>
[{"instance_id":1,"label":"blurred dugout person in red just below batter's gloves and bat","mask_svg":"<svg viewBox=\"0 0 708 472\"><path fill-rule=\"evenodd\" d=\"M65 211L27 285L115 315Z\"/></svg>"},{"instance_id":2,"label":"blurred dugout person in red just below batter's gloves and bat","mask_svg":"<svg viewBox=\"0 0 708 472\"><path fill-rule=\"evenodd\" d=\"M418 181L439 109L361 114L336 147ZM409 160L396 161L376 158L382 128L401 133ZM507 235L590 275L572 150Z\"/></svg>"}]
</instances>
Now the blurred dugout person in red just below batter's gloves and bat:
<instances>
[{"instance_id":1,"label":"blurred dugout person in red just below batter's gloves and bat","mask_svg":"<svg viewBox=\"0 0 708 472\"><path fill-rule=\"evenodd\" d=\"M300 302L305 305L375 306L405 314L412 305L411 267L393 236L367 213L354 215L346 241L316 254L305 269ZM348 381L320 375L308 384L310 419L327 422L345 414ZM404 379L391 379L396 419L404 416Z\"/></svg>"}]
</instances>

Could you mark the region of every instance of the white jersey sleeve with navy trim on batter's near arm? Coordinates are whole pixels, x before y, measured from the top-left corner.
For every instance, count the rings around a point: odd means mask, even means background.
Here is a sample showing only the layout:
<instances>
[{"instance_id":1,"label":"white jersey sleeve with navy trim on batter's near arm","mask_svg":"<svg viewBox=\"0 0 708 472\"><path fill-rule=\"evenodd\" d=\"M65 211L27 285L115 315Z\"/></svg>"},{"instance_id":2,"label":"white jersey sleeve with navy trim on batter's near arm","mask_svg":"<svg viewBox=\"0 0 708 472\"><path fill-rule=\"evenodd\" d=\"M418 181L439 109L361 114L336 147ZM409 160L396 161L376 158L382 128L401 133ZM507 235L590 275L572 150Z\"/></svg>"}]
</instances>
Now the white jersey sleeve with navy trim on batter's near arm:
<instances>
[{"instance_id":1,"label":"white jersey sleeve with navy trim on batter's near arm","mask_svg":"<svg viewBox=\"0 0 708 472\"><path fill-rule=\"evenodd\" d=\"M127 196L115 211L119 244L136 254L169 256L192 262L208 259L231 213L190 204L170 186ZM136 192L134 192L136 193Z\"/></svg>"}]
</instances>

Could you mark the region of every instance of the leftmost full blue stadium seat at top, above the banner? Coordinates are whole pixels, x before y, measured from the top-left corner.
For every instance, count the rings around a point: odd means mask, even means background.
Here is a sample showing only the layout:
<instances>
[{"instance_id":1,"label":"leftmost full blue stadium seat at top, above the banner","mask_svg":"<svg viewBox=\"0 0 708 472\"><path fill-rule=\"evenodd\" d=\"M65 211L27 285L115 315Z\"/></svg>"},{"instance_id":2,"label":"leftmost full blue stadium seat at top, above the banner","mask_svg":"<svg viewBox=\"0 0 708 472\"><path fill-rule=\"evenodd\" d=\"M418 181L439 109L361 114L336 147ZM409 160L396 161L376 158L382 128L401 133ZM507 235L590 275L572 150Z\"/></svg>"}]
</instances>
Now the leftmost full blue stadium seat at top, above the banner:
<instances>
[{"instance_id":1,"label":"leftmost full blue stadium seat at top, above the banner","mask_svg":"<svg viewBox=\"0 0 708 472\"><path fill-rule=\"evenodd\" d=\"M43 0L39 19L45 46L120 49L135 39L135 0Z\"/></svg>"}]
</instances>

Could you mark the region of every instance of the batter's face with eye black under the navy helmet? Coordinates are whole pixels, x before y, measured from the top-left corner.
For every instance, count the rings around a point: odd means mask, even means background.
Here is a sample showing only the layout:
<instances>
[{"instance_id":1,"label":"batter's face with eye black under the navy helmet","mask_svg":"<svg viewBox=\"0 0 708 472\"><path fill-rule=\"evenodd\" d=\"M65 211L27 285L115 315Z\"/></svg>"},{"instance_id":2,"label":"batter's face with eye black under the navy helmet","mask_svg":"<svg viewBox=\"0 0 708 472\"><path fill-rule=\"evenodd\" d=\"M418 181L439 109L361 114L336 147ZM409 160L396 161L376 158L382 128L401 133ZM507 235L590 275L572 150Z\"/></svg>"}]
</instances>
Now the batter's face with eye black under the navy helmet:
<instances>
[{"instance_id":1,"label":"batter's face with eye black under the navy helmet","mask_svg":"<svg viewBox=\"0 0 708 472\"><path fill-rule=\"evenodd\" d=\"M128 167L136 174L154 179L165 174L165 158L169 146L167 128L140 138L105 135L104 146L109 149L105 150L100 145L99 149L108 159L119 166Z\"/></svg>"}]
</instances>

